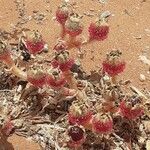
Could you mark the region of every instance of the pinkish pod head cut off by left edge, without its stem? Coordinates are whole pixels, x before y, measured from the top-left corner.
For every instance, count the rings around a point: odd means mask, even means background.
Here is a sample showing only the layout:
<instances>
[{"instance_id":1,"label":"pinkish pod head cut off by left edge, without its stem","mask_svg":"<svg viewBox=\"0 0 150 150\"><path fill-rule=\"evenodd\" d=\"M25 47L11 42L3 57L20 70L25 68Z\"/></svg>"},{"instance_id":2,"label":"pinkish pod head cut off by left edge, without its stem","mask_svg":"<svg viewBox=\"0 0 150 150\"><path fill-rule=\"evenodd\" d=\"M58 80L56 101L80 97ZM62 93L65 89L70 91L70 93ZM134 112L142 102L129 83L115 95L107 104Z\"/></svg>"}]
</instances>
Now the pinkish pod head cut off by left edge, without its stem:
<instances>
[{"instance_id":1,"label":"pinkish pod head cut off by left edge, without its stem","mask_svg":"<svg viewBox=\"0 0 150 150\"><path fill-rule=\"evenodd\" d=\"M4 61L8 64L12 62L8 46L4 41L1 40L0 40L0 61Z\"/></svg>"}]
</instances>

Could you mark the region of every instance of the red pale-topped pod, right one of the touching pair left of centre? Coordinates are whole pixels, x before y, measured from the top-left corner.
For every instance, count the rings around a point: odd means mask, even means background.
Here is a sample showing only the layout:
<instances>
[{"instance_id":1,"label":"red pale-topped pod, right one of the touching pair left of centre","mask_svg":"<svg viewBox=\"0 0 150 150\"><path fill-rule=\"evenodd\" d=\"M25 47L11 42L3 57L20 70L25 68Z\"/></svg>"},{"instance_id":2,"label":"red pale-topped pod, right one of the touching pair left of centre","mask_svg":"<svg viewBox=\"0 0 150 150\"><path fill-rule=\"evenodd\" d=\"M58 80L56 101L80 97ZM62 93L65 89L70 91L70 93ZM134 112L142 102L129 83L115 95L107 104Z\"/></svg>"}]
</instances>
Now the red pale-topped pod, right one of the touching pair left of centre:
<instances>
[{"instance_id":1,"label":"red pale-topped pod, right one of the touching pair left of centre","mask_svg":"<svg viewBox=\"0 0 150 150\"><path fill-rule=\"evenodd\" d=\"M58 90L65 85L66 80L65 80L65 78L64 78L64 76L60 70L50 69L47 73L48 74L46 76L46 83L50 87Z\"/></svg>"}]
</instances>

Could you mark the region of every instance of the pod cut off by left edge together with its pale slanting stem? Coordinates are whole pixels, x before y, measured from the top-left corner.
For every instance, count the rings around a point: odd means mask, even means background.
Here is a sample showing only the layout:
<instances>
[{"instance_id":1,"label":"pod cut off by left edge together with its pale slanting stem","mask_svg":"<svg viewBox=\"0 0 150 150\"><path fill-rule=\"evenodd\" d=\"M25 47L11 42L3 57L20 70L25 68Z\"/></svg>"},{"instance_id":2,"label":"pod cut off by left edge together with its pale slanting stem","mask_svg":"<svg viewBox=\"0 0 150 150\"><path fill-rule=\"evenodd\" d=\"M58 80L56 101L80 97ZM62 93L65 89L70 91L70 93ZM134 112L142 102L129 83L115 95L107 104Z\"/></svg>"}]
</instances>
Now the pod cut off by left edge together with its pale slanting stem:
<instances>
[{"instance_id":1,"label":"pod cut off by left edge together with its pale slanting stem","mask_svg":"<svg viewBox=\"0 0 150 150\"><path fill-rule=\"evenodd\" d=\"M0 40L0 61L5 63L10 71L21 78L22 80L27 79L27 75L25 72L21 71L14 63L13 59L11 58L9 46L6 42Z\"/></svg>"}]
</instances>

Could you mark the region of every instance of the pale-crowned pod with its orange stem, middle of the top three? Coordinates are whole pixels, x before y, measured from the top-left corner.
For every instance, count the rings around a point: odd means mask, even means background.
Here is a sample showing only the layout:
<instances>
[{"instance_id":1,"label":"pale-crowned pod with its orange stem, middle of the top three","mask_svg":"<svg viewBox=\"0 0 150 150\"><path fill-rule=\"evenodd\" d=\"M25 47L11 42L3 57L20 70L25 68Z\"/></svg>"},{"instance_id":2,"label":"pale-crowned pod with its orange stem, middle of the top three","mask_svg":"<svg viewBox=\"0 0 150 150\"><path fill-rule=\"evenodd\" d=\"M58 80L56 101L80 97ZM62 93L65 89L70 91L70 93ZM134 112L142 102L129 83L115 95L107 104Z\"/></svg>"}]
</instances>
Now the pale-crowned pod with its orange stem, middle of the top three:
<instances>
[{"instance_id":1,"label":"pale-crowned pod with its orange stem, middle of the top three","mask_svg":"<svg viewBox=\"0 0 150 150\"><path fill-rule=\"evenodd\" d=\"M83 31L81 18L82 16L77 13L72 13L65 24L66 33L69 34L68 47L79 47L81 45L81 42L76 39Z\"/></svg>"}]
</instances>

